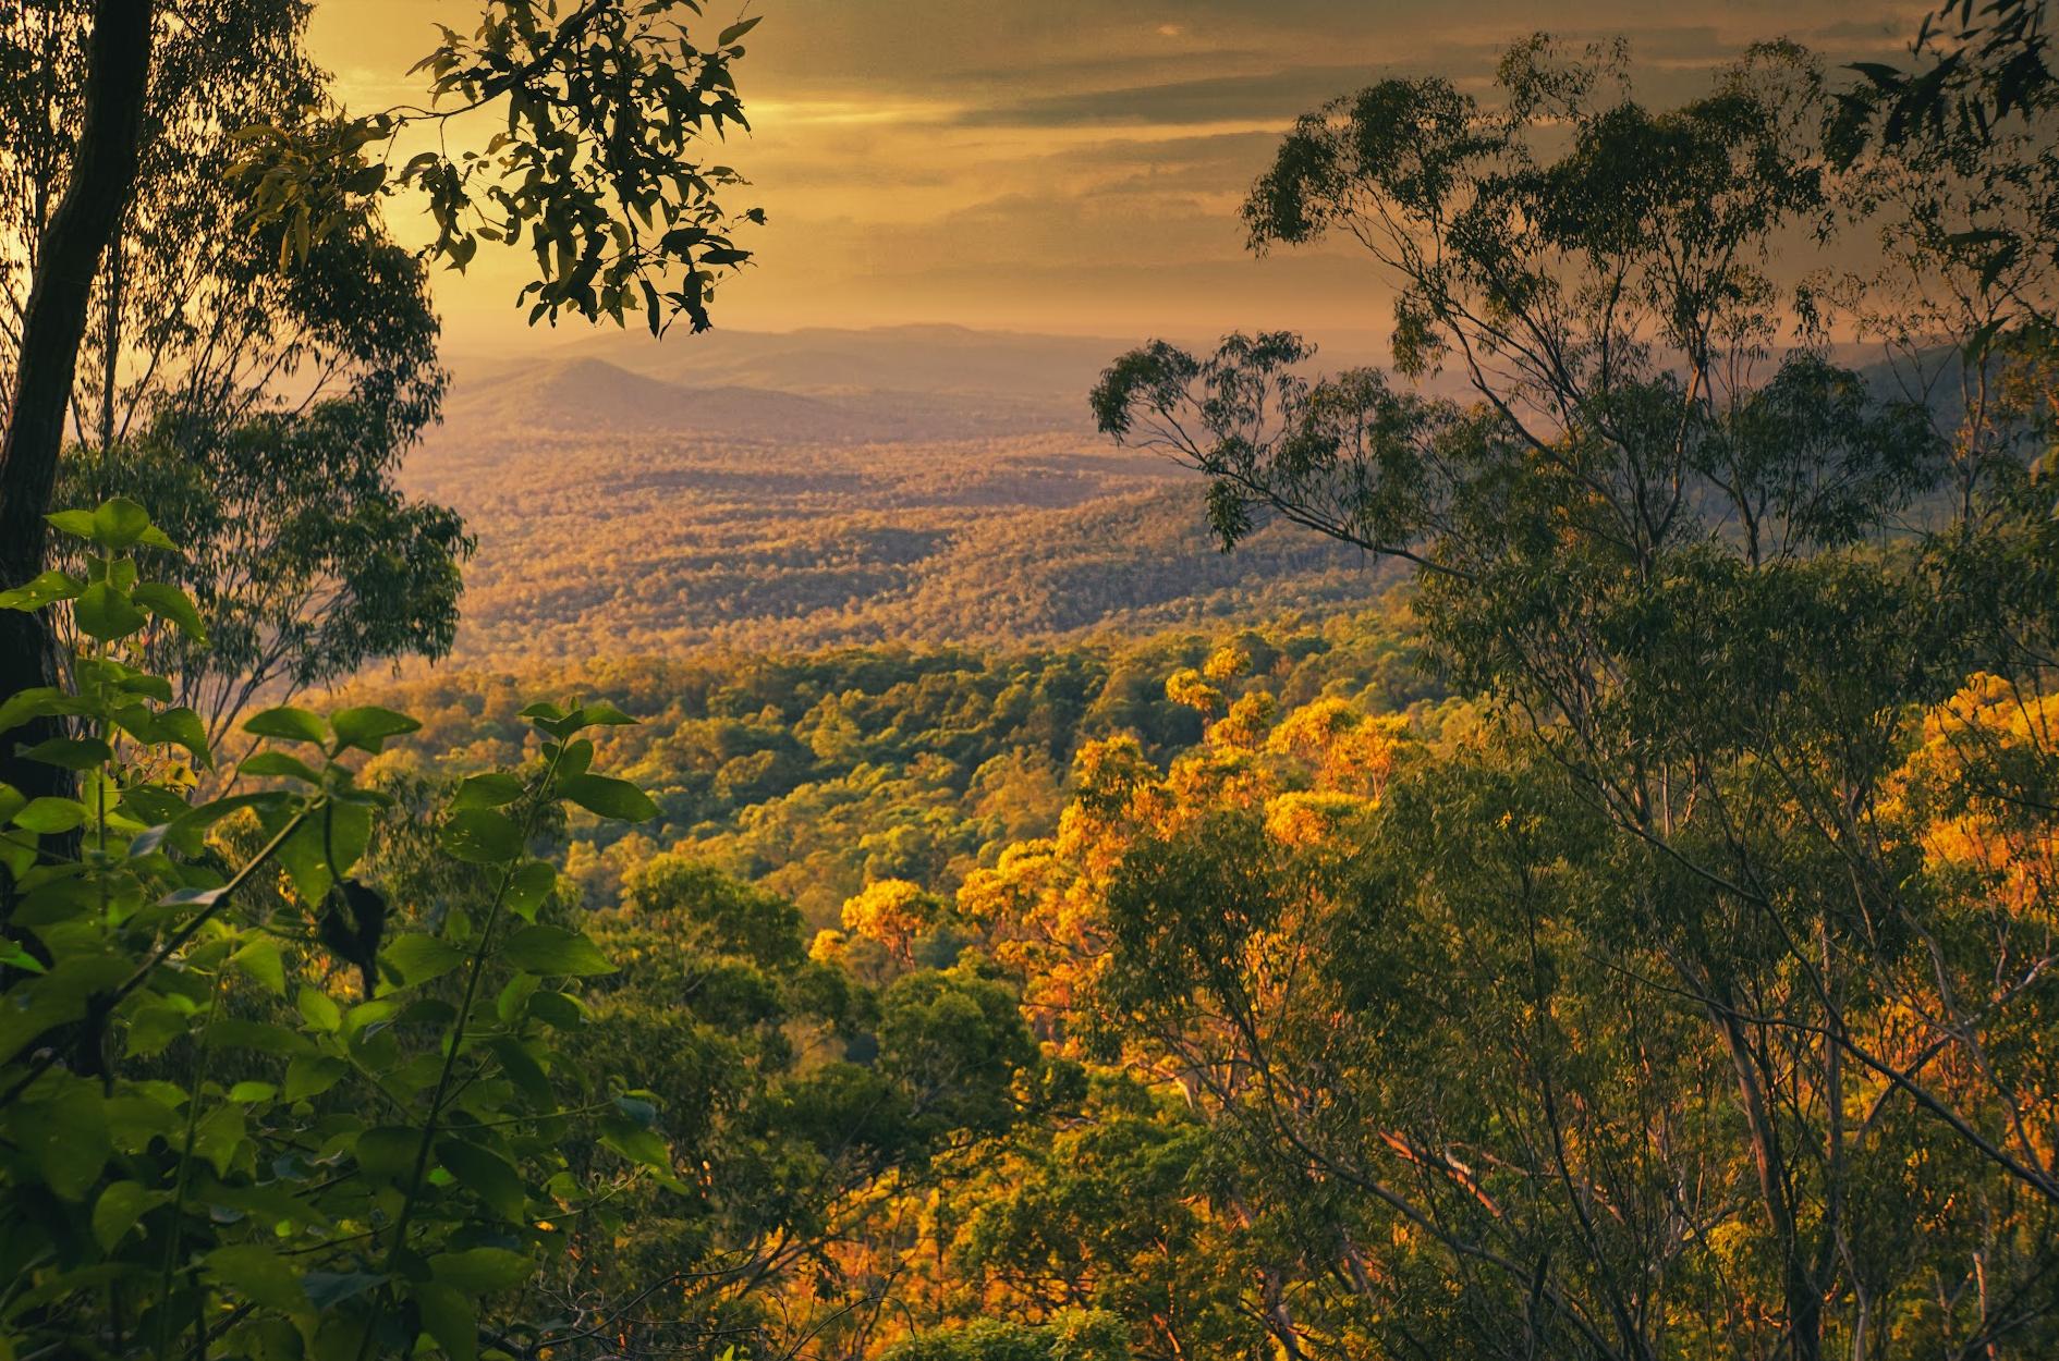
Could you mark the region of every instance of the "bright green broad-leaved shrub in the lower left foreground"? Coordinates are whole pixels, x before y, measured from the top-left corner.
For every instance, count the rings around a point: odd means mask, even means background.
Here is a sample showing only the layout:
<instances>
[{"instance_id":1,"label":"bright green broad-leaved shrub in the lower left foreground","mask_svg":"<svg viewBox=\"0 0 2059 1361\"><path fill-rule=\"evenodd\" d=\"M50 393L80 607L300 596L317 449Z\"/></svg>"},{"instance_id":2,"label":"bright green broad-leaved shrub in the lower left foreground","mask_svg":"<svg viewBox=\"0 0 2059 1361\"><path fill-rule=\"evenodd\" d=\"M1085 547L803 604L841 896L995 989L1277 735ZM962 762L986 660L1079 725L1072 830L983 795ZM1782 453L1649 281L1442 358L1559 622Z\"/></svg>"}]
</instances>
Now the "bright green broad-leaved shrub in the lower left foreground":
<instances>
[{"instance_id":1,"label":"bright green broad-leaved shrub in the lower left foreground","mask_svg":"<svg viewBox=\"0 0 2059 1361\"><path fill-rule=\"evenodd\" d=\"M0 789L8 1349L577 1342L519 1287L577 1250L570 1225L614 1223L626 1186L677 1182L655 1104L562 1050L577 980L614 966L552 920L556 871L531 854L558 801L647 815L589 768L583 733L626 719L527 710L537 760L439 813L480 894L430 924L352 877L389 803L354 766L414 721L268 708L245 731L270 745L241 774L270 784L187 805L167 770L210 762L202 723L126 661L150 618L200 634L181 591L138 579L134 550L169 539L126 500L54 519L89 544L86 574L0 597L70 601L86 640L74 692L23 692L0 717L58 712L80 733L31 752L80 772L78 799ZM323 957L358 966L356 999ZM574 1165L583 1141L605 1155Z\"/></svg>"}]
</instances>

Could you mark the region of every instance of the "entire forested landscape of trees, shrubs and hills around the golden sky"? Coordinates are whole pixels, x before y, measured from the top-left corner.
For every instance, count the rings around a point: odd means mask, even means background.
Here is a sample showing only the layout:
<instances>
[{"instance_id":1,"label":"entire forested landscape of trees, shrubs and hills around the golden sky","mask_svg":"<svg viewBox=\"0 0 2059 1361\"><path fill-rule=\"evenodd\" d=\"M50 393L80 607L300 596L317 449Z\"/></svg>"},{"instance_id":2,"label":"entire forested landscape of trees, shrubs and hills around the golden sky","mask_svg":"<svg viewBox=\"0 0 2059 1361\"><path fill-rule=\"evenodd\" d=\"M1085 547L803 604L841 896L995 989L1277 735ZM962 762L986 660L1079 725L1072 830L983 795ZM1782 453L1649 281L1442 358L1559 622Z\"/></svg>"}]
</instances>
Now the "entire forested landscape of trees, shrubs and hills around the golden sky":
<instances>
[{"instance_id":1,"label":"entire forested landscape of trees, shrubs and hills around the golden sky","mask_svg":"<svg viewBox=\"0 0 2059 1361\"><path fill-rule=\"evenodd\" d=\"M1386 362L1091 445L1021 338L453 389L432 264L764 222L756 16L478 8L371 115L0 16L0 1361L2059 1353L2045 4L1340 95L1242 226Z\"/></svg>"}]
</instances>

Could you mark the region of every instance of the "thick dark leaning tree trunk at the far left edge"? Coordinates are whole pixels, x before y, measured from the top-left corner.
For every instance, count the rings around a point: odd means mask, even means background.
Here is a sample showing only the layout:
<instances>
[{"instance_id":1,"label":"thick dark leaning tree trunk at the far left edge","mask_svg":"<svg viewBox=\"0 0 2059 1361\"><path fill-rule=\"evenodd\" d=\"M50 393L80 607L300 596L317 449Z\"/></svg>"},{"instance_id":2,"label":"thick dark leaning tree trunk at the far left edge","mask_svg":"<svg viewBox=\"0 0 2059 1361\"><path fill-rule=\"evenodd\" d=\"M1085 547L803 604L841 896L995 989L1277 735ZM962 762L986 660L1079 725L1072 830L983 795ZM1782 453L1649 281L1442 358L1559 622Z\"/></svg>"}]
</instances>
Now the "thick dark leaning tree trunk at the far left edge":
<instances>
[{"instance_id":1,"label":"thick dark leaning tree trunk at the far left edge","mask_svg":"<svg viewBox=\"0 0 2059 1361\"><path fill-rule=\"evenodd\" d=\"M0 441L0 587L16 587L43 570L43 515L58 478L93 276L136 183L150 86L150 10L152 0L97 0L93 6L84 130L29 284L21 362ZM43 616L0 609L0 700L51 684L54 663ZM39 727L0 733L0 780L31 797L64 789L56 766L14 756L19 743L49 735Z\"/></svg>"}]
</instances>

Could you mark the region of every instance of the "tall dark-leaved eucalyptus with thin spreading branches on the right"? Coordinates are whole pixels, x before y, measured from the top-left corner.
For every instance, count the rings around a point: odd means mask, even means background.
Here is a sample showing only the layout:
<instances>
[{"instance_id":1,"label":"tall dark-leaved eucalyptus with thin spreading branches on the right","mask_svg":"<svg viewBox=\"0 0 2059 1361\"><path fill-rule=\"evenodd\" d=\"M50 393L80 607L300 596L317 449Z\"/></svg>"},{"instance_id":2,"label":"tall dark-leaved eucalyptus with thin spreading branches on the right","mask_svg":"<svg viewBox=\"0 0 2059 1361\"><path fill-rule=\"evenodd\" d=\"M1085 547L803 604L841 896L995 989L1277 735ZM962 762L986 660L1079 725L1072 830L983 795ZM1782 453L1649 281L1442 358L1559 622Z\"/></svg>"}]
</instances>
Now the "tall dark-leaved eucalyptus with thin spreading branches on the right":
<instances>
[{"instance_id":1,"label":"tall dark-leaved eucalyptus with thin spreading branches on the right","mask_svg":"<svg viewBox=\"0 0 2059 1361\"><path fill-rule=\"evenodd\" d=\"M1283 515L1417 564L1437 659L1575 780L1629 867L1612 939L1723 1056L1793 1357L1822 1353L1835 1301L1878 1305L1851 1252L1874 1135L1847 1122L1853 1083L1975 1159L1989 1202L2043 1223L2059 1200L2049 1132L2012 1114L2047 1083L2012 1036L2051 1017L1983 982L2047 968L2049 943L2003 900L1946 906L1884 830L1911 708L1950 712L1977 671L2043 702L2049 517L1995 441L1938 439L1808 350L1775 362L1808 313L1773 253L1835 206L1824 124L1785 45L1662 113L1614 58L1538 43L1493 107L1375 84L1297 124L1246 222L1256 247L1355 237L1398 286L1402 377L1452 362L1480 404L1310 379L1291 336L1151 346L1093 393L1106 432L1209 474L1225 546ZM1923 515L1948 525L1913 542ZM1544 1299L1573 1289L1563 1256L1511 1260ZM2049 1258L2005 1268L2036 1293ZM1598 1281L1587 1345L1645 1355L1620 1314L1641 1287Z\"/></svg>"}]
</instances>

